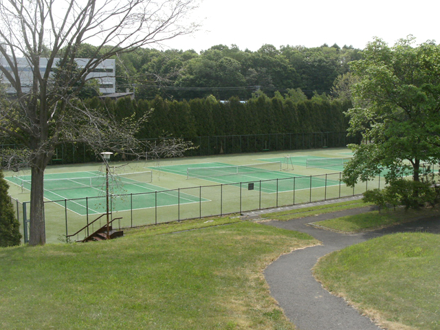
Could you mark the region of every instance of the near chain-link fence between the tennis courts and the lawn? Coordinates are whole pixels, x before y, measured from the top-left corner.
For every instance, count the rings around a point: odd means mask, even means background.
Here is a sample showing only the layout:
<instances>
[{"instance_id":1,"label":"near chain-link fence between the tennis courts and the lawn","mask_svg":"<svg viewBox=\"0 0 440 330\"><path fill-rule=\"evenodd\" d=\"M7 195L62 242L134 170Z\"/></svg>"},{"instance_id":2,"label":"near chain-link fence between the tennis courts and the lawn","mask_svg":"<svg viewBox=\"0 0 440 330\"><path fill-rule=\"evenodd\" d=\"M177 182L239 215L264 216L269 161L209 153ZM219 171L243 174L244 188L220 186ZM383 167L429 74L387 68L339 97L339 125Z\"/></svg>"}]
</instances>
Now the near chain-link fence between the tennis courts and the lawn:
<instances>
[{"instance_id":1,"label":"near chain-link fence between the tennis courts and the lawn","mask_svg":"<svg viewBox=\"0 0 440 330\"><path fill-rule=\"evenodd\" d=\"M122 217L120 228L133 228L325 201L360 195L366 190L381 187L380 176L365 184L358 184L355 188L347 187L342 183L341 176L342 173L331 173L111 195L110 208L112 219ZM170 203L170 200L173 202ZM23 223L22 234L25 243L28 242L29 203L14 200L17 219ZM66 241L67 236L104 213L105 207L105 196L45 201L47 243ZM86 230L80 232L74 240L84 239L88 234Z\"/></svg>"}]
</instances>

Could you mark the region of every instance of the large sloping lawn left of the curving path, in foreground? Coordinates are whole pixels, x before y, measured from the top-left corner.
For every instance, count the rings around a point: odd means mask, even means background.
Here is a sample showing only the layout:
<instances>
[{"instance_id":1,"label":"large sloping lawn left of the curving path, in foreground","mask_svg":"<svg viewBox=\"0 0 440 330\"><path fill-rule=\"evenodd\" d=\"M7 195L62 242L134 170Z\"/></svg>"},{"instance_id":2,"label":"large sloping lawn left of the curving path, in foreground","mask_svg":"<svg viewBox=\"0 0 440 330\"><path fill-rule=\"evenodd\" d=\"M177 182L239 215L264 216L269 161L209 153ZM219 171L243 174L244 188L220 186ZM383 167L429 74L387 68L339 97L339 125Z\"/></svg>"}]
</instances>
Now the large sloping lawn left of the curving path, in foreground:
<instances>
[{"instance_id":1,"label":"large sloping lawn left of the curving path, in foreground","mask_svg":"<svg viewBox=\"0 0 440 330\"><path fill-rule=\"evenodd\" d=\"M0 329L294 329L262 271L311 236L252 222L164 228L0 249Z\"/></svg>"}]
</instances>

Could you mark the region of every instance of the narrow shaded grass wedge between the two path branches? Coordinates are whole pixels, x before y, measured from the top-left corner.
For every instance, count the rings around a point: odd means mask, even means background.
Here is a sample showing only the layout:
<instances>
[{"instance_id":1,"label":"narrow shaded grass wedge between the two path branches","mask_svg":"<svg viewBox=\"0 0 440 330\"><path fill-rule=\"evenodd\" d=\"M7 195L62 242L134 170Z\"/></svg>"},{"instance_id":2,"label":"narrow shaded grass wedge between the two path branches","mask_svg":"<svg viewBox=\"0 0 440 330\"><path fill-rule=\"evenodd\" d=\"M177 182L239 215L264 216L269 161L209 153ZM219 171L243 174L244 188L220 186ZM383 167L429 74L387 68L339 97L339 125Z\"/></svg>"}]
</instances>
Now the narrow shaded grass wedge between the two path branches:
<instances>
[{"instance_id":1,"label":"narrow shaded grass wedge between the two path branches","mask_svg":"<svg viewBox=\"0 0 440 330\"><path fill-rule=\"evenodd\" d=\"M439 210L405 210L404 208L398 208L397 210L382 210L381 212L371 211L336 219L317 221L314 225L341 232L361 232L364 230L375 230L390 225L396 225L398 223L414 221L421 217L433 217L435 215L439 215Z\"/></svg>"}]
</instances>

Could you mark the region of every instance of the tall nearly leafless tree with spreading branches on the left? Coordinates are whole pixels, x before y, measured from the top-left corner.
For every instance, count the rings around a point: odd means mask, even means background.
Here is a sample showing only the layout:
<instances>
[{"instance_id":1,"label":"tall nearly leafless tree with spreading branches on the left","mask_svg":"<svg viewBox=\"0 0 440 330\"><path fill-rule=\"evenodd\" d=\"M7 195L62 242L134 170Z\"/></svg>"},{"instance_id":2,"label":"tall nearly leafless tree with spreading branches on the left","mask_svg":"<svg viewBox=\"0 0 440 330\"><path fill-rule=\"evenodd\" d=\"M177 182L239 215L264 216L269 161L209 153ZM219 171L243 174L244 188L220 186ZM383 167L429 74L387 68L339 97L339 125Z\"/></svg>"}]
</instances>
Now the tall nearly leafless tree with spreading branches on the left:
<instances>
[{"instance_id":1,"label":"tall nearly leafless tree with spreading branches on the left","mask_svg":"<svg viewBox=\"0 0 440 330\"><path fill-rule=\"evenodd\" d=\"M137 148L138 122L117 125L77 98L87 74L102 61L139 47L161 43L197 29L182 24L197 0L3 0L0 1L0 72L14 90L3 98L0 132L25 145L31 167L30 245L45 243L43 176L56 146L87 142L97 155L105 148L125 153ZM81 43L96 52L75 67ZM23 61L32 83L23 87ZM45 58L45 70L40 69ZM65 73L54 74L63 67ZM116 141L116 142L113 142ZM10 158L12 159L12 157Z\"/></svg>"}]
</instances>

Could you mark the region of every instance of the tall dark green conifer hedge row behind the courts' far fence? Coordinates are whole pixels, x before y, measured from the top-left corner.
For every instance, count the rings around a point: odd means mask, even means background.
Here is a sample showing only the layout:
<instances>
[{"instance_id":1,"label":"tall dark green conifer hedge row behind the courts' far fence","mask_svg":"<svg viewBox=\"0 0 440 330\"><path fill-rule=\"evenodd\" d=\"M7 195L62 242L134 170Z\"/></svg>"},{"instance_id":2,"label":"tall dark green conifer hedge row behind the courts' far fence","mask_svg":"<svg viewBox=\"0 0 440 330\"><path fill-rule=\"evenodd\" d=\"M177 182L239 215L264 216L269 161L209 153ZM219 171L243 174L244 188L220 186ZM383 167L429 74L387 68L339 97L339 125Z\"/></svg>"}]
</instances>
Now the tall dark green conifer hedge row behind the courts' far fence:
<instances>
[{"instance_id":1,"label":"tall dark green conifer hedge row behind the courts' far fence","mask_svg":"<svg viewBox=\"0 0 440 330\"><path fill-rule=\"evenodd\" d=\"M348 100L314 96L308 99L300 91L290 90L273 98L263 93L243 102L238 97L227 101L214 96L189 101L166 100L91 100L94 107L107 111L120 122L135 115L141 118L151 111L140 129L140 139L155 137L185 137L214 135L249 135L270 133L344 132L347 118L344 111L351 107Z\"/></svg>"}]
</instances>

